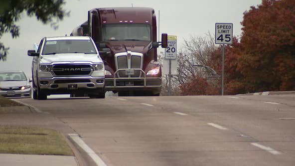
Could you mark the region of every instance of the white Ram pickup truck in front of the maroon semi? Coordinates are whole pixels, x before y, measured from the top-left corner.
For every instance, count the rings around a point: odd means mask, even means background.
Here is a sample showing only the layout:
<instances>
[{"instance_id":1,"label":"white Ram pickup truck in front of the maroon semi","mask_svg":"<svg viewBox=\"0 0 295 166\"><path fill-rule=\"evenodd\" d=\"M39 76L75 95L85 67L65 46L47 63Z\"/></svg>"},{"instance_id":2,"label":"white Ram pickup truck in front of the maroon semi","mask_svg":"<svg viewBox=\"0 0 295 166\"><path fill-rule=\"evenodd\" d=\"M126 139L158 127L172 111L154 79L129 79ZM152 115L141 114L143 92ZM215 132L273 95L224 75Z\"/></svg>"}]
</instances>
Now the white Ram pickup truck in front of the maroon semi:
<instances>
[{"instance_id":1,"label":"white Ram pickup truck in front of the maroon semi","mask_svg":"<svg viewBox=\"0 0 295 166\"><path fill-rule=\"evenodd\" d=\"M105 67L88 36L44 37L33 56L33 98L51 94L105 98Z\"/></svg>"}]
</instances>

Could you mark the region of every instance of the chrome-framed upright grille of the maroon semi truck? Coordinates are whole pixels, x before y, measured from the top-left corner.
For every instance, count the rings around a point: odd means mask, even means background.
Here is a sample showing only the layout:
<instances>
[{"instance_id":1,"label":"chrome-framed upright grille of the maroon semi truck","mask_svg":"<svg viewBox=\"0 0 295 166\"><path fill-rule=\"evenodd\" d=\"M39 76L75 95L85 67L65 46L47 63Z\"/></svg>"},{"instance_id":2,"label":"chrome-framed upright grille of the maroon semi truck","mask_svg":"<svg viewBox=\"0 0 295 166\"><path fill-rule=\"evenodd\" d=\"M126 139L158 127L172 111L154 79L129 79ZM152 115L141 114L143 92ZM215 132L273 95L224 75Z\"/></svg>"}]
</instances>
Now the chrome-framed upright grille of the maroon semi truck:
<instances>
[{"instance_id":1,"label":"chrome-framed upright grille of the maroon semi truck","mask_svg":"<svg viewBox=\"0 0 295 166\"><path fill-rule=\"evenodd\" d=\"M143 54L128 51L115 55L116 70L118 69L143 69ZM126 75L124 70L118 72L118 77L141 77L142 72L135 70L134 75Z\"/></svg>"}]
</instances>

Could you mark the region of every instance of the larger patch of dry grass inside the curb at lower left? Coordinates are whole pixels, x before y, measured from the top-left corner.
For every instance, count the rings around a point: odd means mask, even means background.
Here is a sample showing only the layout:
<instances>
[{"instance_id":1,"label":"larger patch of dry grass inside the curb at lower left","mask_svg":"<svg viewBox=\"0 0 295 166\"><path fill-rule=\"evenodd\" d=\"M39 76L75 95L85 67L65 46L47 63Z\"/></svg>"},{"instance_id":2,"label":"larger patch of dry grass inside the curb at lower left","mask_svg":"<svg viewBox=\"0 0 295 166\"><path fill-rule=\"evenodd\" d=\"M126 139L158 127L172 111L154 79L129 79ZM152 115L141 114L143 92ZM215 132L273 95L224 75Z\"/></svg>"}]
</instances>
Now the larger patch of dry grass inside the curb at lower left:
<instances>
[{"instance_id":1,"label":"larger patch of dry grass inside the curb at lower left","mask_svg":"<svg viewBox=\"0 0 295 166\"><path fill-rule=\"evenodd\" d=\"M33 127L0 125L0 153L73 156L57 131Z\"/></svg>"}]
</instances>

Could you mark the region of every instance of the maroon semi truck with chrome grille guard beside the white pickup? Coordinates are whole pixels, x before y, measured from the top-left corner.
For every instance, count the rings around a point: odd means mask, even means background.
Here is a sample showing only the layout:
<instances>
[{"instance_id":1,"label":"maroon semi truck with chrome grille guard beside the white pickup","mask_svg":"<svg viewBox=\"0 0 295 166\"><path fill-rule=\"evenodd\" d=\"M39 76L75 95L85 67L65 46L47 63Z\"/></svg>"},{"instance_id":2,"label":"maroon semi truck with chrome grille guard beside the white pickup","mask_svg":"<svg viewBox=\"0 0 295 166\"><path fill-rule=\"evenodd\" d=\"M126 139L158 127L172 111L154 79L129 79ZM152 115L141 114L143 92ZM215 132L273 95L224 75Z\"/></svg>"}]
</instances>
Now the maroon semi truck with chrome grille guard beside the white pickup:
<instances>
[{"instance_id":1,"label":"maroon semi truck with chrome grille guard beside the white pickup","mask_svg":"<svg viewBox=\"0 0 295 166\"><path fill-rule=\"evenodd\" d=\"M105 90L119 96L158 96L162 86L156 39L156 17L148 7L94 8L71 35L88 35L105 64Z\"/></svg>"}]
</instances>

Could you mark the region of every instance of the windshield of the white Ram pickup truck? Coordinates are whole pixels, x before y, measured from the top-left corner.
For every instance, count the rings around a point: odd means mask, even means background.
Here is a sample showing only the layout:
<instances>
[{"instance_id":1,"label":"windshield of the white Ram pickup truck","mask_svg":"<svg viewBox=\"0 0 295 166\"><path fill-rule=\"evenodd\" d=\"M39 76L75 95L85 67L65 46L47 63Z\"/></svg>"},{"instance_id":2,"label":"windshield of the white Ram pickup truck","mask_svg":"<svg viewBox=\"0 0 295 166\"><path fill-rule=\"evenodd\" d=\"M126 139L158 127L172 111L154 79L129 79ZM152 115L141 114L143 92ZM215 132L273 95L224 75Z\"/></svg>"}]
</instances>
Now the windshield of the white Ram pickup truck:
<instances>
[{"instance_id":1,"label":"windshield of the white Ram pickup truck","mask_svg":"<svg viewBox=\"0 0 295 166\"><path fill-rule=\"evenodd\" d=\"M96 54L91 40L47 40L42 55L56 53L85 53Z\"/></svg>"}]
</instances>

